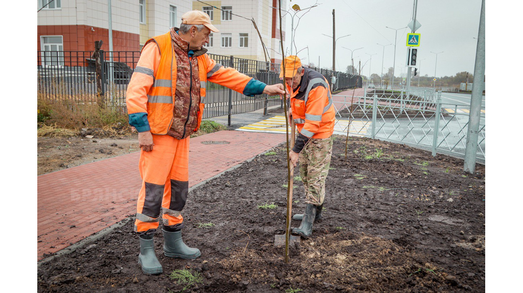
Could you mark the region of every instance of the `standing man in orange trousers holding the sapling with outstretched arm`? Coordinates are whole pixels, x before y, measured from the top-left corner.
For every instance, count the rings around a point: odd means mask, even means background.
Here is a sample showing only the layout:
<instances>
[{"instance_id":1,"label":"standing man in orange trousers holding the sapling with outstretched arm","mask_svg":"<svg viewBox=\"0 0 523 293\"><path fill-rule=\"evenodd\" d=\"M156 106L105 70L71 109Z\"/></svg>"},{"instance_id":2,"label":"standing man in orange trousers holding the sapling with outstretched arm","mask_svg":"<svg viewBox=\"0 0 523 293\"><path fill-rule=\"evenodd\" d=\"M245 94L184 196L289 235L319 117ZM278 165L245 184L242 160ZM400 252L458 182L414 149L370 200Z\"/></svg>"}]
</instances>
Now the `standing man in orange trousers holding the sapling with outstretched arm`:
<instances>
[{"instance_id":1,"label":"standing man in orange trousers holding the sapling with outstretched arm","mask_svg":"<svg viewBox=\"0 0 523 293\"><path fill-rule=\"evenodd\" d=\"M154 252L153 235L161 212L164 254L196 259L200 250L181 239L180 212L188 193L189 136L200 127L211 81L246 96L285 94L283 85L267 86L212 60L202 46L218 30L202 11L181 17L180 28L147 41L127 88L129 124L139 134L139 169L142 187L138 196L134 230L140 237L138 262L145 274L163 272Z\"/></svg>"}]
</instances>

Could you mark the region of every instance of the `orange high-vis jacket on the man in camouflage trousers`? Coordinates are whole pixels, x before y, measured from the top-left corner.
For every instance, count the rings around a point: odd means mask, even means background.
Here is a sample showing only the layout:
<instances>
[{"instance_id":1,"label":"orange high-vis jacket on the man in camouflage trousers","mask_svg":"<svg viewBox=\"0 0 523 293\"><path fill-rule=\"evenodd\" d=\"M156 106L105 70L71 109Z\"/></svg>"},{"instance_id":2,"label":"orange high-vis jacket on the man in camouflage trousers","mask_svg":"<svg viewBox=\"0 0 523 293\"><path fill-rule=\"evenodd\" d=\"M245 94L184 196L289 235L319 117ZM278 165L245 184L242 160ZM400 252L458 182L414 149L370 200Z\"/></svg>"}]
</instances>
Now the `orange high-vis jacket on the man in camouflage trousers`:
<instances>
[{"instance_id":1,"label":"orange high-vis jacket on the man in camouflage trousers","mask_svg":"<svg viewBox=\"0 0 523 293\"><path fill-rule=\"evenodd\" d=\"M306 68L300 86L292 92L292 119L301 134L309 138L328 138L334 133L335 110L331 89L320 73Z\"/></svg>"}]
</instances>

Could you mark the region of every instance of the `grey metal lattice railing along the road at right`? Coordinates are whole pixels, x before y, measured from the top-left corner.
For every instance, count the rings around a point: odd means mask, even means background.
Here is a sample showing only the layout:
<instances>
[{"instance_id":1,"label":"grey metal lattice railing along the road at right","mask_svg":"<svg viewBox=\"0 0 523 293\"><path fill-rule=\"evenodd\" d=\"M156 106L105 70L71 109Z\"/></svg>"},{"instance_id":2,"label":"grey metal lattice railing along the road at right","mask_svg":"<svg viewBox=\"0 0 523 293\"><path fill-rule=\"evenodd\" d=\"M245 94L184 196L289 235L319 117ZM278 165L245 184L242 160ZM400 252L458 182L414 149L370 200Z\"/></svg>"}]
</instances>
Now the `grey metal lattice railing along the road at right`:
<instances>
[{"instance_id":1,"label":"grey metal lattice railing along the road at right","mask_svg":"<svg viewBox=\"0 0 523 293\"><path fill-rule=\"evenodd\" d=\"M426 107L423 100L404 99L402 104L397 99L377 95L354 98L334 95L333 100L336 128L344 133L350 116L352 134L431 150L433 156L440 153L464 158L469 113L460 110L463 104L442 103L441 92L436 92L435 107ZM484 107L477 144L476 159L485 163Z\"/></svg>"}]
</instances>

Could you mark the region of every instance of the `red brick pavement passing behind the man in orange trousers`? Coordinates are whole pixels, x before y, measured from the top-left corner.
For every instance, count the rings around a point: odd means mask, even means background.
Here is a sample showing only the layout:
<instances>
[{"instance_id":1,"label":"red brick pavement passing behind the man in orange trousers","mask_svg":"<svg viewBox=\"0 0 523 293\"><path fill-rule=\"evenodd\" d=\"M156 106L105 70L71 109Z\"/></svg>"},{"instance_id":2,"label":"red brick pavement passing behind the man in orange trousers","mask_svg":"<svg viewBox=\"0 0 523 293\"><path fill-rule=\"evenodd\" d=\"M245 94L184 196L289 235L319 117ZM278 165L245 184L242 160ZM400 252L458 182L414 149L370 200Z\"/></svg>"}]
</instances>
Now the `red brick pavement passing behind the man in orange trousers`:
<instances>
[{"instance_id":1,"label":"red brick pavement passing behind the man in orange trousers","mask_svg":"<svg viewBox=\"0 0 523 293\"><path fill-rule=\"evenodd\" d=\"M230 144L205 145L208 140ZM190 140L189 186L285 142L285 135L220 131ZM38 260L136 213L140 153L38 177Z\"/></svg>"}]
</instances>

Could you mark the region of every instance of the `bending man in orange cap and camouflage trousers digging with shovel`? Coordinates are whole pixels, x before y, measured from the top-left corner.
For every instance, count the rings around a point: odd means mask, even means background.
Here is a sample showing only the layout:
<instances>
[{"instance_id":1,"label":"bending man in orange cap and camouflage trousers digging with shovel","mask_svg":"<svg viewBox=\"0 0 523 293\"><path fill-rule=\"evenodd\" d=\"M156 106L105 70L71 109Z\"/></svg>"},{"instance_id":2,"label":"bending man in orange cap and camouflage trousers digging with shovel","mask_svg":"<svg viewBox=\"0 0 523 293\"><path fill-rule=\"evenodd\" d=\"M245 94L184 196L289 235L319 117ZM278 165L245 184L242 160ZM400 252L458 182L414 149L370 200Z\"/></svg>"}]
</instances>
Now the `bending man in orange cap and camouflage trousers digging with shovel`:
<instances>
[{"instance_id":1,"label":"bending man in orange cap and camouflage trousers digging with shovel","mask_svg":"<svg viewBox=\"0 0 523 293\"><path fill-rule=\"evenodd\" d=\"M305 187L305 213L294 215L301 220L294 235L307 239L312 234L315 219L321 219L325 200L325 179L331 165L335 123L331 89L323 75L302 66L298 56L281 63L280 77L285 72L285 83L290 96L290 119L298 127L299 134L289 159L296 166L300 162L300 176Z\"/></svg>"}]
</instances>

